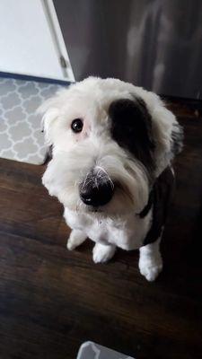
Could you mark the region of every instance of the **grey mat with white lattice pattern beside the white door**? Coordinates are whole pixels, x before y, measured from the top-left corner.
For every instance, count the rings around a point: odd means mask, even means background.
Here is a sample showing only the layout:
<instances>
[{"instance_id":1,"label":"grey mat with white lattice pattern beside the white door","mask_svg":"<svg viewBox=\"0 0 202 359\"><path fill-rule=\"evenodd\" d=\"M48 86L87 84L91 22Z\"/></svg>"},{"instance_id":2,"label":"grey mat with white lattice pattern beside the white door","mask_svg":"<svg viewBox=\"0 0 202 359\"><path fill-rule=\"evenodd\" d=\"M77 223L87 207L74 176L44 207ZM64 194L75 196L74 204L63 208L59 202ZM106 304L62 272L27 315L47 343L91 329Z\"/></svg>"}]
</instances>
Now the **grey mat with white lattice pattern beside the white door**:
<instances>
[{"instance_id":1,"label":"grey mat with white lattice pattern beside the white door","mask_svg":"<svg viewBox=\"0 0 202 359\"><path fill-rule=\"evenodd\" d=\"M36 109L62 85L0 78L0 157L41 164L47 146Z\"/></svg>"}]
</instances>

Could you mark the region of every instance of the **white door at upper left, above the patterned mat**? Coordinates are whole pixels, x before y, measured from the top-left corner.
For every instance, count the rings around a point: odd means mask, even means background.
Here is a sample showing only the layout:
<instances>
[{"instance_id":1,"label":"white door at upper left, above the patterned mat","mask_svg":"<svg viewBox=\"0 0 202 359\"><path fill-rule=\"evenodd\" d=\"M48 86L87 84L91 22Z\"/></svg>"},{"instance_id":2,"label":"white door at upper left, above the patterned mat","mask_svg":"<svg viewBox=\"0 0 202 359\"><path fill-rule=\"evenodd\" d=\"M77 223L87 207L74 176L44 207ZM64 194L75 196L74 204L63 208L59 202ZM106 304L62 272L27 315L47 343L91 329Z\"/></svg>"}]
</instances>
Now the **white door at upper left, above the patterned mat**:
<instances>
[{"instance_id":1,"label":"white door at upper left, above the patterned mat","mask_svg":"<svg viewBox=\"0 0 202 359\"><path fill-rule=\"evenodd\" d=\"M74 81L52 0L0 0L0 72Z\"/></svg>"}]
</instances>

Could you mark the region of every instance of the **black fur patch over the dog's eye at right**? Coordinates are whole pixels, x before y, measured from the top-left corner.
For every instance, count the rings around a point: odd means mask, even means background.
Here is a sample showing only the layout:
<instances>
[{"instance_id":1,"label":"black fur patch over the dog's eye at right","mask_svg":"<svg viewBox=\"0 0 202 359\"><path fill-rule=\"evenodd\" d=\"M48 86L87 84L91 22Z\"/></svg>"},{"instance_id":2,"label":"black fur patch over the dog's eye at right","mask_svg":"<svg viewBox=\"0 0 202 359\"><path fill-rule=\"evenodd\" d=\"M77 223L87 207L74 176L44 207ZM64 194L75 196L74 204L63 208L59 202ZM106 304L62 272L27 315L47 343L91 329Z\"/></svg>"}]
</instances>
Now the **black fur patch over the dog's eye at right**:
<instances>
[{"instance_id":1,"label":"black fur patch over the dog's eye at right","mask_svg":"<svg viewBox=\"0 0 202 359\"><path fill-rule=\"evenodd\" d=\"M134 101L120 99L110 104L112 138L147 170L154 170L154 141L152 137L152 120L145 102L136 98Z\"/></svg>"}]
</instances>

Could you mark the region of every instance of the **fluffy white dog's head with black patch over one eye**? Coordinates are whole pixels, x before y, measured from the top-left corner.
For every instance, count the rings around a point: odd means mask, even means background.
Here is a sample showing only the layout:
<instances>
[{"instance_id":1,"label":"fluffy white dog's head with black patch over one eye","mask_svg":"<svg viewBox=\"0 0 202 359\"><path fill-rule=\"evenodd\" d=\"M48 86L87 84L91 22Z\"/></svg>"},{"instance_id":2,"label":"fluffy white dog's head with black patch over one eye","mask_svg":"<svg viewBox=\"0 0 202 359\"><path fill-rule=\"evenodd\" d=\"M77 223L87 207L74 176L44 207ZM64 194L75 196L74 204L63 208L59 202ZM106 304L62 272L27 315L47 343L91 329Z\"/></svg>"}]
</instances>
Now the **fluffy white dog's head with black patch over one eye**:
<instances>
[{"instance_id":1,"label":"fluffy white dog's head with black patch over one eye","mask_svg":"<svg viewBox=\"0 0 202 359\"><path fill-rule=\"evenodd\" d=\"M89 77L41 106L53 157L49 194L73 211L139 213L158 175L180 151L180 127L153 92Z\"/></svg>"}]
</instances>

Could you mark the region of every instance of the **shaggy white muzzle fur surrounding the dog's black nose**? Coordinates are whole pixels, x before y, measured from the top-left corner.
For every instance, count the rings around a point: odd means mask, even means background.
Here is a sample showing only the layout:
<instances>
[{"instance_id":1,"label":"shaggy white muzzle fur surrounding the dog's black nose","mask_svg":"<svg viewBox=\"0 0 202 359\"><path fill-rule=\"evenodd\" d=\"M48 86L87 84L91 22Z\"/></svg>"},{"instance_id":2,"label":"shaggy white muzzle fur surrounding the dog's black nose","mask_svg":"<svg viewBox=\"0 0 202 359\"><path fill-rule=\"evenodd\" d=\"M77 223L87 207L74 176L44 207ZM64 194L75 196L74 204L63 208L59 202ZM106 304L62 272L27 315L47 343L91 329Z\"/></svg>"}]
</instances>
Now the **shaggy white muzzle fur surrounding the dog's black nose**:
<instances>
[{"instance_id":1,"label":"shaggy white muzzle fur surrounding the dog's black nose","mask_svg":"<svg viewBox=\"0 0 202 359\"><path fill-rule=\"evenodd\" d=\"M43 176L43 184L51 196L55 196L73 211L92 213L79 196L79 187L89 171L104 171L117 186L110 202L98 208L96 216L116 216L139 213L148 200L148 180L144 168L117 147L104 146L93 155L91 146L75 146L74 150L54 153Z\"/></svg>"}]
</instances>

